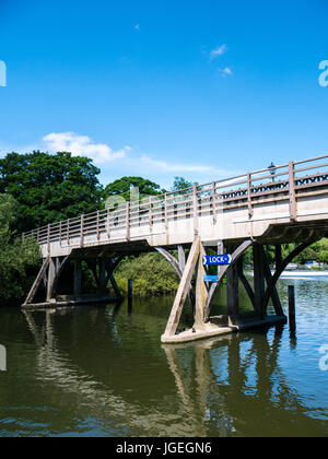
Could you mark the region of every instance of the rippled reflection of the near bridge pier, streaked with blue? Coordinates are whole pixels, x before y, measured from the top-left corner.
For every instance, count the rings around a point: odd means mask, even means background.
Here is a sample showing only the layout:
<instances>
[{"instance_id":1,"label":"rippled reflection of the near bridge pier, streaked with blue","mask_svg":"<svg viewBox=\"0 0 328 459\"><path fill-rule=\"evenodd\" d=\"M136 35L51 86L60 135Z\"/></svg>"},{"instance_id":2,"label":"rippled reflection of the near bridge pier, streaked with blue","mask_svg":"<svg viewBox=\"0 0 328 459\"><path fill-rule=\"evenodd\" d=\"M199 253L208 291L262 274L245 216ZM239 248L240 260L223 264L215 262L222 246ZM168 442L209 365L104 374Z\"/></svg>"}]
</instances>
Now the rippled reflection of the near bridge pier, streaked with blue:
<instances>
[{"instance_id":1,"label":"rippled reflection of the near bridge pier, streaked with blue","mask_svg":"<svg viewBox=\"0 0 328 459\"><path fill-rule=\"evenodd\" d=\"M212 435L214 428L219 436L270 435L270 431L271 435L301 434L298 426L306 422L307 408L290 388L278 364L282 331L282 327L276 328L271 344L266 331L251 338L238 334L199 341L192 346L188 370L178 356L183 345L179 349L163 345L185 413L196 426L197 435L209 432ZM218 355L227 357L225 376L220 375L222 360L215 362ZM280 416L290 409L300 424L283 433ZM316 428L320 431L319 425Z\"/></svg>"}]
</instances>

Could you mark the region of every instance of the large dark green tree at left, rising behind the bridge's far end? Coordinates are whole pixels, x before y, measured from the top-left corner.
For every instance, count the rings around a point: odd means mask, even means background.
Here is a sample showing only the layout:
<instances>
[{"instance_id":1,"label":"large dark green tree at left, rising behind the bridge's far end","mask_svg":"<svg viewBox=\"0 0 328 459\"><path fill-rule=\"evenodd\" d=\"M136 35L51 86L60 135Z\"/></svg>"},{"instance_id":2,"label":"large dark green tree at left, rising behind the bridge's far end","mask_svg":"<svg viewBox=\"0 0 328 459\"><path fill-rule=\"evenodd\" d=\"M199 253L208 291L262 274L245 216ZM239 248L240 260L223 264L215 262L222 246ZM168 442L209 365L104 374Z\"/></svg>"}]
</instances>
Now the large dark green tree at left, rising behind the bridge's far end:
<instances>
[{"instance_id":1,"label":"large dark green tree at left, rising behind the bridge's far end","mask_svg":"<svg viewBox=\"0 0 328 459\"><path fill-rule=\"evenodd\" d=\"M71 153L10 153L0 160L0 192L17 202L17 231L94 212L101 207L99 169Z\"/></svg>"}]
</instances>

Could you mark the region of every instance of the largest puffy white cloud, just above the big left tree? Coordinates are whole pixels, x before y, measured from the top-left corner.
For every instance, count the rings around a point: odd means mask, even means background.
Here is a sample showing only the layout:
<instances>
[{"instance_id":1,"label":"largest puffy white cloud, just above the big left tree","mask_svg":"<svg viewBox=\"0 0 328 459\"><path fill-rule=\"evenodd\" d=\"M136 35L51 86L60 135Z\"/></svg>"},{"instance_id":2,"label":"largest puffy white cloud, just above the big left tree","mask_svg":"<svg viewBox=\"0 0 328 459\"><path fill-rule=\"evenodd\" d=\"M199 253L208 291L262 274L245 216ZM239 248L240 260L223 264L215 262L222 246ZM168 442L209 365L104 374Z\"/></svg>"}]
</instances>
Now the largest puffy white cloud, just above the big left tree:
<instances>
[{"instance_id":1,"label":"largest puffy white cloud, just above the big left tree","mask_svg":"<svg viewBox=\"0 0 328 459\"><path fill-rule=\"evenodd\" d=\"M93 143L87 136L78 136L74 132L49 133L43 138L46 149L50 152L70 152L73 156L87 156L95 163L106 163L122 158L130 146L114 151L105 143Z\"/></svg>"}]
</instances>

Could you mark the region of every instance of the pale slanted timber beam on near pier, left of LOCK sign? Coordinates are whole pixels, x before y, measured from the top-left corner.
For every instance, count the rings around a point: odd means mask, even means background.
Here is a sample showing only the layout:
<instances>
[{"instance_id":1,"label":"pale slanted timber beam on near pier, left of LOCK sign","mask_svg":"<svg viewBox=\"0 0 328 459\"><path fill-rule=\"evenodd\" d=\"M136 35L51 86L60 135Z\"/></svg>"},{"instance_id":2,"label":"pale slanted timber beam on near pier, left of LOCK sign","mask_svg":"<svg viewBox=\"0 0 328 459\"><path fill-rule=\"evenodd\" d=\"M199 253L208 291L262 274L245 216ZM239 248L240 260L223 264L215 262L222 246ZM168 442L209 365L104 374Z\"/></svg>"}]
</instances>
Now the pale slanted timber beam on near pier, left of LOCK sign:
<instances>
[{"instance_id":1,"label":"pale slanted timber beam on near pier, left of LOCK sign","mask_svg":"<svg viewBox=\"0 0 328 459\"><path fill-rule=\"evenodd\" d=\"M190 249L190 254L188 257L188 261L183 274L183 279L180 281L172 311L167 321L167 326L165 329L165 336L172 337L175 334L179 319L181 317L181 311L184 304L186 302L186 297L188 295L189 285L191 282L191 278L195 271L196 263L199 258L200 252L200 238L199 236L195 238L194 244Z\"/></svg>"}]
</instances>

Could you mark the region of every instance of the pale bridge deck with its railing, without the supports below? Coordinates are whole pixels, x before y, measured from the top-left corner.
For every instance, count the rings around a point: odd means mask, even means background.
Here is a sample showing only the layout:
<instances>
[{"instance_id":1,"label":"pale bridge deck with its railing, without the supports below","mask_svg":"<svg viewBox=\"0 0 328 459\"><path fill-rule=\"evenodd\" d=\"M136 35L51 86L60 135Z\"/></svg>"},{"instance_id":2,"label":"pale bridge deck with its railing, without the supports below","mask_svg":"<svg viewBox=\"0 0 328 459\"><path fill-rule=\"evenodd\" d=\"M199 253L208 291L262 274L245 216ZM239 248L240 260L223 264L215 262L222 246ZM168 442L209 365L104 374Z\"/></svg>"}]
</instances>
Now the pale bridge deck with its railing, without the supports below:
<instances>
[{"instance_id":1,"label":"pale bridge deck with its railing, without the supports below","mask_svg":"<svg viewBox=\"0 0 328 459\"><path fill-rule=\"evenodd\" d=\"M328 234L328 155L127 202L23 234L44 258L79 249L129 252L155 246L256 238L270 244Z\"/></svg>"}]
</instances>

